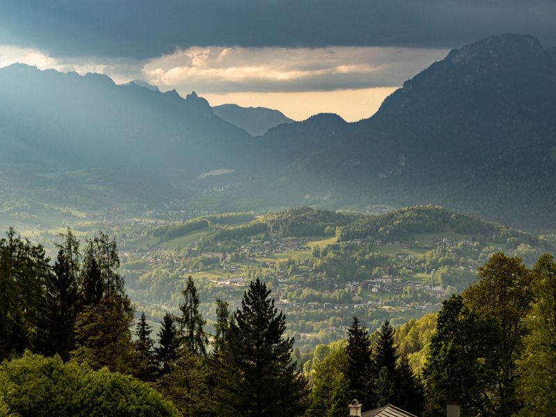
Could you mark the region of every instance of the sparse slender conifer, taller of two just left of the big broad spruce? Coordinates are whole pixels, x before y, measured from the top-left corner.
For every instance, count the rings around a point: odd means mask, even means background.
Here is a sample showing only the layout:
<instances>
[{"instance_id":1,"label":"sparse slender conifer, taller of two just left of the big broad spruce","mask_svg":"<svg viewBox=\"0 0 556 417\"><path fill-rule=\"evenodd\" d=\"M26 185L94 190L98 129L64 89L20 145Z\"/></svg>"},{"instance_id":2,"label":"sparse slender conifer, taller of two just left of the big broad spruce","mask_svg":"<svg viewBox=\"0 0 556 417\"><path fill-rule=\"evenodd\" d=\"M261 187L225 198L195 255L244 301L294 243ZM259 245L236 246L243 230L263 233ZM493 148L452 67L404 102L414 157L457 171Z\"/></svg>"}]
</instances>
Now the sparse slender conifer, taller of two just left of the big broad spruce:
<instances>
[{"instance_id":1,"label":"sparse slender conifer, taller of two just left of the big broad spruce","mask_svg":"<svg viewBox=\"0 0 556 417\"><path fill-rule=\"evenodd\" d=\"M181 292L185 302L179 306L181 310L180 339L186 350L206 356L208 336L203 330L206 321L199 311L199 295L191 276L187 279L186 289Z\"/></svg>"}]
</instances>

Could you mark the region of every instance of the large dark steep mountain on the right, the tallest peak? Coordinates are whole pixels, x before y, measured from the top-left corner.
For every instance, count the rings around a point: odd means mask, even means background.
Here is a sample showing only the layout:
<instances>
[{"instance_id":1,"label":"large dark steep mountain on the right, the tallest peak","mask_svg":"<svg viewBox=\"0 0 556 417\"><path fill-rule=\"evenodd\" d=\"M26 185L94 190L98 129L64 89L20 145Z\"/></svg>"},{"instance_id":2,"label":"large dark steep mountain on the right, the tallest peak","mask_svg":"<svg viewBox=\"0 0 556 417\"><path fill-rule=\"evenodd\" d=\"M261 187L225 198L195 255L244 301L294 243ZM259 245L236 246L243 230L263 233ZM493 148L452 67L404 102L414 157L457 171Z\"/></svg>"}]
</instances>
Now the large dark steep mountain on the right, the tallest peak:
<instances>
[{"instance_id":1,"label":"large dark steep mountain on the right, the tallest peak","mask_svg":"<svg viewBox=\"0 0 556 417\"><path fill-rule=\"evenodd\" d=\"M284 181L344 202L433 203L514 226L553 227L556 60L525 35L454 49L406 81L343 140ZM295 125L292 125L295 128Z\"/></svg>"}]
</instances>

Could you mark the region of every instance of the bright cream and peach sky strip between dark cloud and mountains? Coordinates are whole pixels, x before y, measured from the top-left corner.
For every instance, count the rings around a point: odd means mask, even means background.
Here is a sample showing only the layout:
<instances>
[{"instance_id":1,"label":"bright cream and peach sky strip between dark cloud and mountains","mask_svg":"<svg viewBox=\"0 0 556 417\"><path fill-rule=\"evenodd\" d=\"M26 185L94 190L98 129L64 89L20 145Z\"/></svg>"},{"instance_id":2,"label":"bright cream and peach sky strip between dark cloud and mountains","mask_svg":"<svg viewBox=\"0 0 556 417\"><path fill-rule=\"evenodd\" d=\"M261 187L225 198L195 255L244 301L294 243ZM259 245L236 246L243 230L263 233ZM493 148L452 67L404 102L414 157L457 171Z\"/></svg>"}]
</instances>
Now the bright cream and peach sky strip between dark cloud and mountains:
<instances>
[{"instance_id":1,"label":"bright cream and peach sky strip between dark cloud and mountains","mask_svg":"<svg viewBox=\"0 0 556 417\"><path fill-rule=\"evenodd\" d=\"M115 83L142 79L183 97L195 90L213 106L265 106L295 120L338 113L354 121L370 117L398 85L447 53L393 47L191 47L136 60L54 58L37 49L0 45L0 67L19 62L40 70L98 72Z\"/></svg>"}]
</instances>

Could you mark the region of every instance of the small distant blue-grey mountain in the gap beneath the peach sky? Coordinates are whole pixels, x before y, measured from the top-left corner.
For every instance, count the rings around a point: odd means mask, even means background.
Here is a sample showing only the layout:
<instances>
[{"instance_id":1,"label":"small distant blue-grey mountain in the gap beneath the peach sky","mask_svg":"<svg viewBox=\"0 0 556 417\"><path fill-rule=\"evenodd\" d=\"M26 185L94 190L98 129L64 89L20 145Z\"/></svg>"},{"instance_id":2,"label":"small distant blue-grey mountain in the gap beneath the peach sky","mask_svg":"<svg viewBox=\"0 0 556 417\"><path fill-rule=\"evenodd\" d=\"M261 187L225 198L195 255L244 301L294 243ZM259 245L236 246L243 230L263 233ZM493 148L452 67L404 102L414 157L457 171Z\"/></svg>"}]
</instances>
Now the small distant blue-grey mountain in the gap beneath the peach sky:
<instances>
[{"instance_id":1,"label":"small distant blue-grey mountain in the gap beneath the peach sky","mask_svg":"<svg viewBox=\"0 0 556 417\"><path fill-rule=\"evenodd\" d=\"M222 120L238 126L252 136L261 136L268 129L279 124L294 122L294 120L286 117L284 113L265 107L240 107L237 104L222 104L214 106L213 112Z\"/></svg>"}]
</instances>

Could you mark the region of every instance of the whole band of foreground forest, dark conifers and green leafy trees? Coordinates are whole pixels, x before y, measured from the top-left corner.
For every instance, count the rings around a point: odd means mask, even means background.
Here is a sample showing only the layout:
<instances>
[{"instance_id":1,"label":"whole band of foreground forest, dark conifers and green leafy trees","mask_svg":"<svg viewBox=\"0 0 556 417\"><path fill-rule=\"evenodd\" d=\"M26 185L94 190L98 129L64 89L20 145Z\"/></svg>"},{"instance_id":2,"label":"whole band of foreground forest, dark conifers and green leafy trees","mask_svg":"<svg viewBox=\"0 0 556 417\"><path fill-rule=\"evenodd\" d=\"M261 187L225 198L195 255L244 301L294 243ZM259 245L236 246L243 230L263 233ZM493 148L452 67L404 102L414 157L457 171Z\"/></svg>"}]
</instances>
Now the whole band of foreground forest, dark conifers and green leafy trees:
<instances>
[{"instance_id":1,"label":"whole band of foreground forest, dark conifers and green leafy trees","mask_svg":"<svg viewBox=\"0 0 556 417\"><path fill-rule=\"evenodd\" d=\"M323 221L325 222L325 221ZM13 229L0 240L0 412L51 416L345 416L394 404L417 416L550 416L556 373L556 263L498 252L439 313L373 333L352 318L343 340L293 352L265 282L206 331L199 291L156 337L134 317L115 240L60 236L54 263Z\"/></svg>"}]
</instances>

